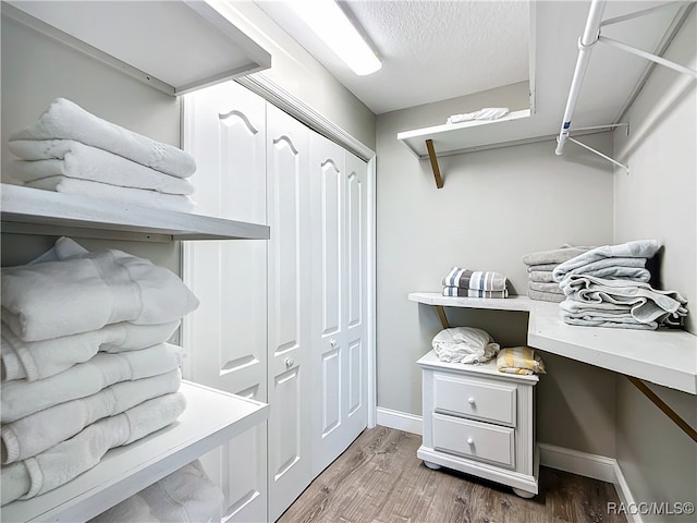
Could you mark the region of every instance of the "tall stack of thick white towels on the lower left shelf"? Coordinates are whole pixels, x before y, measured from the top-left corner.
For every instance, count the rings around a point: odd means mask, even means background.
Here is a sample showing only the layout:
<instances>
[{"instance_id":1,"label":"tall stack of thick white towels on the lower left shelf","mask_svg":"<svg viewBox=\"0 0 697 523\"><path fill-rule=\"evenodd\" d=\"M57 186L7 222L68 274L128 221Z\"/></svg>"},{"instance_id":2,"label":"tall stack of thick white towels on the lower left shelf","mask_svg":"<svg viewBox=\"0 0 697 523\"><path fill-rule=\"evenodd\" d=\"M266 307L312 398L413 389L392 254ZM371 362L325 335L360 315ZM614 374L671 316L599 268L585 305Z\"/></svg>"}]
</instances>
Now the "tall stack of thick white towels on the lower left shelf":
<instances>
[{"instance_id":1,"label":"tall stack of thick white towels on the lower left shelf","mask_svg":"<svg viewBox=\"0 0 697 523\"><path fill-rule=\"evenodd\" d=\"M166 268L65 238L1 276L5 504L68 483L179 417L184 351L166 341L198 300Z\"/></svg>"}]
</instances>

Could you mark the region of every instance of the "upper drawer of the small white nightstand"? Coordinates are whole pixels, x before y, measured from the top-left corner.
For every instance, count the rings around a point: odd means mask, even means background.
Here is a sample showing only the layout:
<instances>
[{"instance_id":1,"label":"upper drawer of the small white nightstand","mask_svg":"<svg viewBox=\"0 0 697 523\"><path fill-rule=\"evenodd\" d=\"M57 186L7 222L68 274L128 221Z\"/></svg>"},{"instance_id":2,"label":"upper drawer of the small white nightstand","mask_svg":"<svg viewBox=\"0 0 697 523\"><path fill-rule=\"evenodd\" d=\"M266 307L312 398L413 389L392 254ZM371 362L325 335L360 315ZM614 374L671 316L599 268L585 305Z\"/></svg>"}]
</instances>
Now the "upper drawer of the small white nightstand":
<instances>
[{"instance_id":1,"label":"upper drawer of the small white nightstand","mask_svg":"<svg viewBox=\"0 0 697 523\"><path fill-rule=\"evenodd\" d=\"M515 427L516 387L451 374L433 376L433 410Z\"/></svg>"}]
</instances>

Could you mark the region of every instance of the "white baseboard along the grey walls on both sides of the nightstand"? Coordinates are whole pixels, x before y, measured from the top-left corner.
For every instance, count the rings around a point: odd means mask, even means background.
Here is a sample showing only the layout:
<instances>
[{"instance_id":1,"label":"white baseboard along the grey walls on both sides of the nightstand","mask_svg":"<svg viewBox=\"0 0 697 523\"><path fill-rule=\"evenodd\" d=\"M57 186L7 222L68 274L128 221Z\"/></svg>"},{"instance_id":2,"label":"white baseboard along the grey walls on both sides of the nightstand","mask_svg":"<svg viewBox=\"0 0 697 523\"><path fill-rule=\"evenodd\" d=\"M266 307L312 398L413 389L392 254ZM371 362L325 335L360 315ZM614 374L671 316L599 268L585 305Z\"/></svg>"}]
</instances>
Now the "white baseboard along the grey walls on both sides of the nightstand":
<instances>
[{"instance_id":1,"label":"white baseboard along the grey walls on both sides of the nightstand","mask_svg":"<svg viewBox=\"0 0 697 523\"><path fill-rule=\"evenodd\" d=\"M415 414L407 414L378 406L377 423L382 427L423 436L421 416ZM624 474L622 474L622 469L620 469L617 460L549 443L538 443L538 446L540 449L540 465L612 483L620 497L620 502L624 507L634 506L634 496L632 496L632 491L624 478ZM631 523L643 523L641 514L631 514L627 512L627 518Z\"/></svg>"}]
</instances>

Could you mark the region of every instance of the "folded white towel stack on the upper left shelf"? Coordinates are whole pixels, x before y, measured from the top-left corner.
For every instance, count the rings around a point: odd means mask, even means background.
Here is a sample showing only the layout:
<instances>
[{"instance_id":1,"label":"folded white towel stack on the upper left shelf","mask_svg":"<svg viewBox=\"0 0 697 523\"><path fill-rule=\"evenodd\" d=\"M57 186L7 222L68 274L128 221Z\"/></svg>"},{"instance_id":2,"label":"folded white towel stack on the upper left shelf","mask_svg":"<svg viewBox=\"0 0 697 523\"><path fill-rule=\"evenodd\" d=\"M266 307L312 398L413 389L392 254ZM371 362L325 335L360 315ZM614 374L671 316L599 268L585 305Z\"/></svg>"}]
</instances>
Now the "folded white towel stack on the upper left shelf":
<instances>
[{"instance_id":1,"label":"folded white towel stack on the upper left shelf","mask_svg":"<svg viewBox=\"0 0 697 523\"><path fill-rule=\"evenodd\" d=\"M8 174L26 186L191 212L196 170L183 150L57 98L29 129L10 136L21 158Z\"/></svg>"}]
</instances>

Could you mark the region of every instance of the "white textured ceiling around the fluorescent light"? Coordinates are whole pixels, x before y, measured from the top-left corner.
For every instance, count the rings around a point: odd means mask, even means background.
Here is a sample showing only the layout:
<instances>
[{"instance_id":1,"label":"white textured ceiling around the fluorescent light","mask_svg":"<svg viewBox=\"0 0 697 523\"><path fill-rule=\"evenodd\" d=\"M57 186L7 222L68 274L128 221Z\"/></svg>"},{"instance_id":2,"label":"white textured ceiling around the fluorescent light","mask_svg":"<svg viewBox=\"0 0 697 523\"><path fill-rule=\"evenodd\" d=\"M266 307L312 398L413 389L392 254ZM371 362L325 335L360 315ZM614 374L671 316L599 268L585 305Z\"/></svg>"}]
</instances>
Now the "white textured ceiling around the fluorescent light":
<instances>
[{"instance_id":1,"label":"white textured ceiling around the fluorescent light","mask_svg":"<svg viewBox=\"0 0 697 523\"><path fill-rule=\"evenodd\" d=\"M381 58L377 73L356 76L282 2L259 2L376 114L528 80L527 1L348 0L343 5Z\"/></svg>"}]
</instances>

